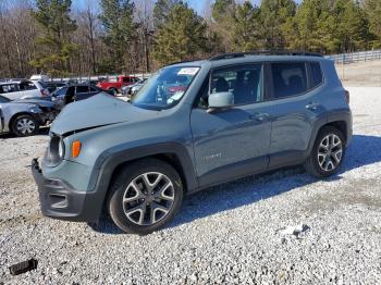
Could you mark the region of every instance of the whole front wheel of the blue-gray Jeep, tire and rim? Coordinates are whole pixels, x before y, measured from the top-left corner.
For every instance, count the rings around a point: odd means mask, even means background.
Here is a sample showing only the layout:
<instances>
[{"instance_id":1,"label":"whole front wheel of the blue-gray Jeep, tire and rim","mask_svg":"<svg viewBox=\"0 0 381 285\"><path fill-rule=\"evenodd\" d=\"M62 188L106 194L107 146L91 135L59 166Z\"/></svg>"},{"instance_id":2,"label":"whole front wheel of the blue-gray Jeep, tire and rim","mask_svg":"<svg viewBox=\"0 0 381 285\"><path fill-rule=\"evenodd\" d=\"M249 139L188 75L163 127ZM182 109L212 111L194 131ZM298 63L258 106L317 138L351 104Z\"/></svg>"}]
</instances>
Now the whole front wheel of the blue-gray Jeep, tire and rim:
<instances>
[{"instance_id":1,"label":"whole front wheel of the blue-gray Jeep, tire and rim","mask_svg":"<svg viewBox=\"0 0 381 285\"><path fill-rule=\"evenodd\" d=\"M111 220L123 232L146 235L174 218L183 196L182 179L170 164L144 159L124 168L114 177L107 208Z\"/></svg>"}]
</instances>

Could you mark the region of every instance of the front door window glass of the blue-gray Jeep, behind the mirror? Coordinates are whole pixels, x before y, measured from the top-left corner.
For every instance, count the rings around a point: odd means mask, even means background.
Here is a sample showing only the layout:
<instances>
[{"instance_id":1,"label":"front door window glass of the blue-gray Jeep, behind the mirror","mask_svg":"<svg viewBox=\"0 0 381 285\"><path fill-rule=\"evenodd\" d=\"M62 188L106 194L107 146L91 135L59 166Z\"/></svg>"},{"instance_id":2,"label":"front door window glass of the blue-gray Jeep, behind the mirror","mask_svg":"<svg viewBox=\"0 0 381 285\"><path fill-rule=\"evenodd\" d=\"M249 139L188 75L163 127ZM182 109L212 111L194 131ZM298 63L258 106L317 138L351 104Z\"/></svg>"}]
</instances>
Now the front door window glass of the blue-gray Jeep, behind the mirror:
<instances>
[{"instance_id":1,"label":"front door window glass of the blue-gray Jeep, behind the mirror","mask_svg":"<svg viewBox=\"0 0 381 285\"><path fill-rule=\"evenodd\" d=\"M262 100L262 64L232 66L211 75L209 92L232 92L234 104L250 104Z\"/></svg>"}]
</instances>

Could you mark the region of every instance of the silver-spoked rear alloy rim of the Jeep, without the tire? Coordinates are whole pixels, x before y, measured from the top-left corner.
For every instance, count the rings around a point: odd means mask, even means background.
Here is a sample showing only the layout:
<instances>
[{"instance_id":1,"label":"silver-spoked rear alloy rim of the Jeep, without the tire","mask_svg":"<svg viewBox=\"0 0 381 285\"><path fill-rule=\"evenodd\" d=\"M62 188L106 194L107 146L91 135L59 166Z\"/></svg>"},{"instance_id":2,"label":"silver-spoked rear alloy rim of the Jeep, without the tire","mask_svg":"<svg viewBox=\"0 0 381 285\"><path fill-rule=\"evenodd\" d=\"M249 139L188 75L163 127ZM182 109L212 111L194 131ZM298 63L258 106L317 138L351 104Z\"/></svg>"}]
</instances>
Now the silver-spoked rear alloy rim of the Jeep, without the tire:
<instances>
[{"instance_id":1,"label":"silver-spoked rear alloy rim of the Jeep, without the tire","mask_svg":"<svg viewBox=\"0 0 381 285\"><path fill-rule=\"evenodd\" d=\"M330 134L321 140L318 148L318 162L325 171L333 171L337 168L343 158L343 144L339 136Z\"/></svg>"}]
</instances>

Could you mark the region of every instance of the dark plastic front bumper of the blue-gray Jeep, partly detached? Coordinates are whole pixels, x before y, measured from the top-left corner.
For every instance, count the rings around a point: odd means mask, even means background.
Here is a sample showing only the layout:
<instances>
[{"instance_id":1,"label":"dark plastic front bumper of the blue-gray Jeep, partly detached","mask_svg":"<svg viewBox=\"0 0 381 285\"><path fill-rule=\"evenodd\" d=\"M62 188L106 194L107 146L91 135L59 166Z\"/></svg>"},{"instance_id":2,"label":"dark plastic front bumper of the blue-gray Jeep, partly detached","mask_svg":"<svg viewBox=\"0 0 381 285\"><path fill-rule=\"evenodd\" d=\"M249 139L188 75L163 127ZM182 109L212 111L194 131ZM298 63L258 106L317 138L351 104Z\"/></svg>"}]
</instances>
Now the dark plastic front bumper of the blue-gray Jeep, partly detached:
<instances>
[{"instance_id":1,"label":"dark plastic front bumper of the blue-gray Jeep, partly detached","mask_svg":"<svg viewBox=\"0 0 381 285\"><path fill-rule=\"evenodd\" d=\"M44 215L74 222L94 222L99 219L102 200L99 201L97 193L77 191L64 181L46 178L37 159L32 161L32 173L38 186Z\"/></svg>"}]
</instances>

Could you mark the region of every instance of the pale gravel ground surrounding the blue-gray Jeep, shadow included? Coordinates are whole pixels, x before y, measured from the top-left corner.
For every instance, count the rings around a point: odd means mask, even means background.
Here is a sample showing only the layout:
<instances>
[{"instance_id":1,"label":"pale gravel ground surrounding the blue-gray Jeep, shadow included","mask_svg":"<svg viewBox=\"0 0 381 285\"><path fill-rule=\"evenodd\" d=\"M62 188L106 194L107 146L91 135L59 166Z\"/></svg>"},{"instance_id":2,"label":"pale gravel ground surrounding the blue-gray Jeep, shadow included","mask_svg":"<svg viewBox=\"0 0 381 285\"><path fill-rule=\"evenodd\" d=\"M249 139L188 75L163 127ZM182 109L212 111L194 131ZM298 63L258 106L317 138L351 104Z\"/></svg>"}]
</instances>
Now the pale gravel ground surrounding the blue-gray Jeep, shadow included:
<instances>
[{"instance_id":1,"label":"pale gravel ground surrounding the blue-gray Jeep, shadow included","mask_svg":"<svg viewBox=\"0 0 381 285\"><path fill-rule=\"evenodd\" d=\"M41 216L29 164L46 132L0 137L0 283L380 284L381 88L349 90L355 136L339 175L296 168L213 187L142 237L106 219L91 228ZM37 270L10 275L28 258Z\"/></svg>"}]
</instances>

